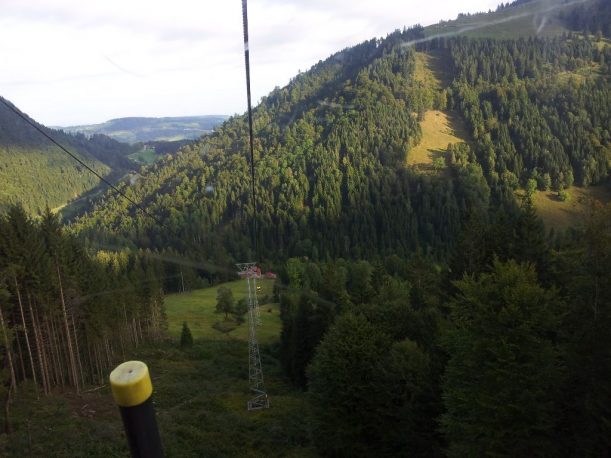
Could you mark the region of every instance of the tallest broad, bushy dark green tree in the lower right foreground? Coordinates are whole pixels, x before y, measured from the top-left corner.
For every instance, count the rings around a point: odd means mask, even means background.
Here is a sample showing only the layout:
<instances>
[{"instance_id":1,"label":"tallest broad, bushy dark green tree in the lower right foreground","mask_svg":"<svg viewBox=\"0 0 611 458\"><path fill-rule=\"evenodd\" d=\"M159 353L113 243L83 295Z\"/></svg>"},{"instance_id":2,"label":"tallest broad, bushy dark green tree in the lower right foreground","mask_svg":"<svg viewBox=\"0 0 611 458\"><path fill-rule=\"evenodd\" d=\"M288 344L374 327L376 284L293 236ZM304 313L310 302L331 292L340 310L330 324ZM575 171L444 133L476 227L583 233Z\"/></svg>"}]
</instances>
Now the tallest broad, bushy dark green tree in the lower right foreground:
<instances>
[{"instance_id":1,"label":"tallest broad, bushy dark green tree in the lower right foreground","mask_svg":"<svg viewBox=\"0 0 611 458\"><path fill-rule=\"evenodd\" d=\"M558 296L515 261L455 286L441 419L449 456L553 455Z\"/></svg>"}]
</instances>

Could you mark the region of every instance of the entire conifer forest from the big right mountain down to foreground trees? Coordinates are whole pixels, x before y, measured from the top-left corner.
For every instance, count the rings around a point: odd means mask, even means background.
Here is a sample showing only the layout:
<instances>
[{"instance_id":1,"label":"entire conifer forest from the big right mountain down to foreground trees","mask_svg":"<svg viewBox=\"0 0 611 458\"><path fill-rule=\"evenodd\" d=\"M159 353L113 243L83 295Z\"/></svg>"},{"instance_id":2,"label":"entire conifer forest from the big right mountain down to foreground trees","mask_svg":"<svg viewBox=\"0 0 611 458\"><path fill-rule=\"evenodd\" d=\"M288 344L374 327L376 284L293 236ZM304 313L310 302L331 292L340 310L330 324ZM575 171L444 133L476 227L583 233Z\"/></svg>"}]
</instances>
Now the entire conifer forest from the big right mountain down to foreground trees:
<instances>
[{"instance_id":1,"label":"entire conifer forest from the big right mountain down to foreground trees","mask_svg":"<svg viewBox=\"0 0 611 458\"><path fill-rule=\"evenodd\" d=\"M554 36L427 39L414 26L318 62L254 110L255 199L236 115L120 183L132 202L108 191L64 224L7 206L6 409L22 387L103 383L167 338L164 294L235 280L234 264L256 259L278 274L264 365L307 405L306 431L282 446L609 456L611 203L581 202L562 231L534 204L609 186L608 6L576 8ZM421 78L423 56L440 87ZM425 173L407 161L432 110L465 138ZM180 324L195 351L195 326Z\"/></svg>"}]
</instances>

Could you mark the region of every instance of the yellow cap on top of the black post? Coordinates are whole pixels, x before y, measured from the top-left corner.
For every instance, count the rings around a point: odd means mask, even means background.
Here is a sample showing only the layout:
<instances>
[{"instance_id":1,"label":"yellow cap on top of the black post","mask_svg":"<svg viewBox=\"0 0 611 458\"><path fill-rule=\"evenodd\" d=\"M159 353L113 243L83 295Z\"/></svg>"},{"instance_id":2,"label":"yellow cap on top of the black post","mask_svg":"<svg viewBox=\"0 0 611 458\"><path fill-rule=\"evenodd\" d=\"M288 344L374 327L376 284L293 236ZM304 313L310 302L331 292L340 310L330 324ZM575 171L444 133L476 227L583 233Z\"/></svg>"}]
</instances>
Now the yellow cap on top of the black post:
<instances>
[{"instance_id":1,"label":"yellow cap on top of the black post","mask_svg":"<svg viewBox=\"0 0 611 458\"><path fill-rule=\"evenodd\" d=\"M110 373L110 389L115 402L121 407L142 404L153 393L148 367L142 361L119 364Z\"/></svg>"}]
</instances>

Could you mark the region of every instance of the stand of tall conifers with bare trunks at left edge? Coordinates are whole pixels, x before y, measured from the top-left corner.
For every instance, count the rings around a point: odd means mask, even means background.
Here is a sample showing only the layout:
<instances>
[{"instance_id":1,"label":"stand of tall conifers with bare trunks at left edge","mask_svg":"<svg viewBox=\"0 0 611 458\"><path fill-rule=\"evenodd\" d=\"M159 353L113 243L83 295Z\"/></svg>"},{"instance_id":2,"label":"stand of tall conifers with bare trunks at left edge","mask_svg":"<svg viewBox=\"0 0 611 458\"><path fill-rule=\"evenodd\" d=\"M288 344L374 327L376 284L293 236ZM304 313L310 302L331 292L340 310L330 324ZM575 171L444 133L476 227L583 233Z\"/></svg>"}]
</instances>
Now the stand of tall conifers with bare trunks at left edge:
<instances>
[{"instance_id":1,"label":"stand of tall conifers with bare trunks at left edge","mask_svg":"<svg viewBox=\"0 0 611 458\"><path fill-rule=\"evenodd\" d=\"M10 207L0 218L5 397L25 382L45 394L103 383L126 351L160 339L162 272L138 254L91 256L48 209L33 220Z\"/></svg>"}]
</instances>

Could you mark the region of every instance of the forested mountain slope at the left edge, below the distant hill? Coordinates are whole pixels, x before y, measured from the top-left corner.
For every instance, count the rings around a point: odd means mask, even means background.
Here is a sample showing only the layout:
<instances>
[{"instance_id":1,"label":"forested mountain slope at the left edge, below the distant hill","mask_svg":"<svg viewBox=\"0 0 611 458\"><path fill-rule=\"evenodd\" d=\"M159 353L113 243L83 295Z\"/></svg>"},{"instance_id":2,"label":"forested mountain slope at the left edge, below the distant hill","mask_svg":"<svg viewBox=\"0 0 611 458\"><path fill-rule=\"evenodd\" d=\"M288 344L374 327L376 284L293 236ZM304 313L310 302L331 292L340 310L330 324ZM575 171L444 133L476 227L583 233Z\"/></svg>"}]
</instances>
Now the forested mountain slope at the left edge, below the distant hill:
<instances>
[{"instance_id":1,"label":"forested mountain slope at the left edge, below the distant hill","mask_svg":"<svg viewBox=\"0 0 611 458\"><path fill-rule=\"evenodd\" d=\"M9 102L10 103L10 102ZM101 175L131 167L129 145L104 135L86 138L39 127ZM0 104L0 209L21 203L31 213L65 204L99 180Z\"/></svg>"}]
</instances>

